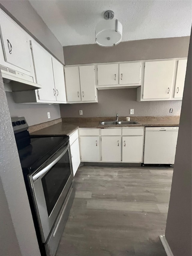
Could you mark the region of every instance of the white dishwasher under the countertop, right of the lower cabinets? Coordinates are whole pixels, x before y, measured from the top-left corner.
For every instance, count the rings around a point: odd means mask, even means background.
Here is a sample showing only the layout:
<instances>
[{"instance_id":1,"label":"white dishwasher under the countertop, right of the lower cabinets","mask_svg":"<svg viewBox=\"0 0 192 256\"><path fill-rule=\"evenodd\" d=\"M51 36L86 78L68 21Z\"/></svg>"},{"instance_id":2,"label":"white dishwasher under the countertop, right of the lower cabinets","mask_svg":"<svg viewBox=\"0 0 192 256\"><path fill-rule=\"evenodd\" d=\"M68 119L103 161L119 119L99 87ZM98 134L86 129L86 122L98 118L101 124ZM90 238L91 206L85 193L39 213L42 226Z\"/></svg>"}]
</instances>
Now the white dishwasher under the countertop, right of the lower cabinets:
<instances>
[{"instance_id":1,"label":"white dishwasher under the countertop, right of the lower cabinets","mask_svg":"<svg viewBox=\"0 0 192 256\"><path fill-rule=\"evenodd\" d=\"M174 164L179 127L146 127L144 164Z\"/></svg>"}]
</instances>

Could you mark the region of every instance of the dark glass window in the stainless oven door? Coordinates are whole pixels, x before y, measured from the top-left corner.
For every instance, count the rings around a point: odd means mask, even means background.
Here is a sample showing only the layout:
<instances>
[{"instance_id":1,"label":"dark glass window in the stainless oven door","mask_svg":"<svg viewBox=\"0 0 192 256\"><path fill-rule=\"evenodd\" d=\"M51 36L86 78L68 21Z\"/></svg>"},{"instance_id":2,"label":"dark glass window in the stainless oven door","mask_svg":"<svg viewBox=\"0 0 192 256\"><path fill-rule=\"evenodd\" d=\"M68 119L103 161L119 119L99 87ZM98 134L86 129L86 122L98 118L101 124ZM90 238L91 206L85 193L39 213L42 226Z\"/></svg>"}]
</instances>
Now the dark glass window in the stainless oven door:
<instances>
[{"instance_id":1,"label":"dark glass window in the stainless oven door","mask_svg":"<svg viewBox=\"0 0 192 256\"><path fill-rule=\"evenodd\" d=\"M41 179L48 215L51 214L71 174L69 151Z\"/></svg>"}]
</instances>

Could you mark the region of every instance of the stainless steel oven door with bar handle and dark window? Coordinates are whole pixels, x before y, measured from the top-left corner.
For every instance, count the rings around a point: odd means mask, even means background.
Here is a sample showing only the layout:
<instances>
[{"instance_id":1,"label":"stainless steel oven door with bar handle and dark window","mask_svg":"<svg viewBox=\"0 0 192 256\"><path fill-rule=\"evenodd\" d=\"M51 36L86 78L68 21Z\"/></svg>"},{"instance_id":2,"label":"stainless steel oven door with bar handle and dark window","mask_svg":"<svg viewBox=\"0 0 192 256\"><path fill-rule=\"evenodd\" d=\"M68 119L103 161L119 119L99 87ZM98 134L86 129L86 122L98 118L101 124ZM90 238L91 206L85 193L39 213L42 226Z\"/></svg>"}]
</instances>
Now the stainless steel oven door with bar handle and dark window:
<instances>
[{"instance_id":1,"label":"stainless steel oven door with bar handle and dark window","mask_svg":"<svg viewBox=\"0 0 192 256\"><path fill-rule=\"evenodd\" d=\"M29 175L42 242L46 242L72 181L69 141Z\"/></svg>"}]
</instances>

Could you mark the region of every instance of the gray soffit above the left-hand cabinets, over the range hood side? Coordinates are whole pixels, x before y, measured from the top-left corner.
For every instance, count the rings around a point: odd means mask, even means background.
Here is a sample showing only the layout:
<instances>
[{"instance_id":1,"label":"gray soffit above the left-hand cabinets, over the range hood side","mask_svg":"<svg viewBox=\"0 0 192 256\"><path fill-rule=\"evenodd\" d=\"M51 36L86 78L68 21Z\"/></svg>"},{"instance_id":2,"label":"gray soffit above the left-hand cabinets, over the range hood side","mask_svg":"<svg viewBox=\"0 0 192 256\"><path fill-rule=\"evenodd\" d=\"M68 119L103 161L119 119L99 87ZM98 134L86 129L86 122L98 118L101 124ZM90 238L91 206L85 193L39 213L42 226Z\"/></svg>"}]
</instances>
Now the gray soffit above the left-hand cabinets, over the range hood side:
<instances>
[{"instance_id":1,"label":"gray soffit above the left-hand cabinets, over the range hood side","mask_svg":"<svg viewBox=\"0 0 192 256\"><path fill-rule=\"evenodd\" d=\"M0 0L0 8L64 63L63 47L27 0Z\"/></svg>"}]
</instances>

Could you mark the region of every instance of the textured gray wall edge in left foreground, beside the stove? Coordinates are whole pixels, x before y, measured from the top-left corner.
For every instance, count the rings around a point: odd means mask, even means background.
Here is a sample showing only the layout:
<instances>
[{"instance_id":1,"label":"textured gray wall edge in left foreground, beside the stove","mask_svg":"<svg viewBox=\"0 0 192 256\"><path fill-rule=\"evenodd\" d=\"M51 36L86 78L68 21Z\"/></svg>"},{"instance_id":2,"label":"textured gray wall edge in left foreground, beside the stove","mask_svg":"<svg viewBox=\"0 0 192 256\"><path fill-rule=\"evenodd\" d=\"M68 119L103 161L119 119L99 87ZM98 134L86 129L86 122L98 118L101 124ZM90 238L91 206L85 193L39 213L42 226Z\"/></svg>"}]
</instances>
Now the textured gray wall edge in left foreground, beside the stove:
<instances>
[{"instance_id":1,"label":"textured gray wall edge in left foreground, beside the stove","mask_svg":"<svg viewBox=\"0 0 192 256\"><path fill-rule=\"evenodd\" d=\"M1 255L40 256L0 71ZM3 232L4 229L7 229Z\"/></svg>"}]
</instances>

